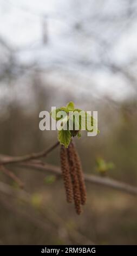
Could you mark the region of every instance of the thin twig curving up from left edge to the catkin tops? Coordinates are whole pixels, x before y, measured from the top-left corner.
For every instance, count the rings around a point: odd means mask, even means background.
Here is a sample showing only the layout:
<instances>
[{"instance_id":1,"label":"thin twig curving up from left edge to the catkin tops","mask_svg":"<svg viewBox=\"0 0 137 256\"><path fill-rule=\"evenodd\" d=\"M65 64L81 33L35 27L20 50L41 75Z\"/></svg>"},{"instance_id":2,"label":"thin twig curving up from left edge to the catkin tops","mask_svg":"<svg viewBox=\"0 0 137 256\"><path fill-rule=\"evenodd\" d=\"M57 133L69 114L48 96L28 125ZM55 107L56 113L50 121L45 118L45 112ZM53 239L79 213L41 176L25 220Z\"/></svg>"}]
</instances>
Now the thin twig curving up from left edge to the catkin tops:
<instances>
[{"instance_id":1,"label":"thin twig curving up from left edge to the catkin tops","mask_svg":"<svg viewBox=\"0 0 137 256\"><path fill-rule=\"evenodd\" d=\"M49 149L43 150L38 153L31 153L28 155L23 156L6 156L0 155L0 164L9 164L9 163L17 163L17 162L24 162L32 159L38 159L39 157L47 156L53 149L55 149L60 142L56 142L52 147Z\"/></svg>"}]
</instances>

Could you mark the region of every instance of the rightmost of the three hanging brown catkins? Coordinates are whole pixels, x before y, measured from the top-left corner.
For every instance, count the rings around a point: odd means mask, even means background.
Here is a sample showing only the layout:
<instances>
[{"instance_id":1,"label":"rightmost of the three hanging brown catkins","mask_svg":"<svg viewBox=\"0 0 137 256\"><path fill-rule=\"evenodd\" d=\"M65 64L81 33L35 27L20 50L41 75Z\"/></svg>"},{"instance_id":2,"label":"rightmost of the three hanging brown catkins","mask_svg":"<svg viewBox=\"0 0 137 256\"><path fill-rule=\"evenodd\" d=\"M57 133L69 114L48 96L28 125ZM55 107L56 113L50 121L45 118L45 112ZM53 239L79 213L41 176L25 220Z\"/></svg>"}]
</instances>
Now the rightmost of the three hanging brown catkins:
<instances>
[{"instance_id":1,"label":"rightmost of the three hanging brown catkins","mask_svg":"<svg viewBox=\"0 0 137 256\"><path fill-rule=\"evenodd\" d=\"M75 159L75 165L77 170L77 177L79 179L81 204L84 205L86 203L87 193L86 193L86 186L84 183L82 165L81 165L80 157L79 157L79 154L77 153L74 143L72 143L72 145L73 145L74 159Z\"/></svg>"}]
</instances>

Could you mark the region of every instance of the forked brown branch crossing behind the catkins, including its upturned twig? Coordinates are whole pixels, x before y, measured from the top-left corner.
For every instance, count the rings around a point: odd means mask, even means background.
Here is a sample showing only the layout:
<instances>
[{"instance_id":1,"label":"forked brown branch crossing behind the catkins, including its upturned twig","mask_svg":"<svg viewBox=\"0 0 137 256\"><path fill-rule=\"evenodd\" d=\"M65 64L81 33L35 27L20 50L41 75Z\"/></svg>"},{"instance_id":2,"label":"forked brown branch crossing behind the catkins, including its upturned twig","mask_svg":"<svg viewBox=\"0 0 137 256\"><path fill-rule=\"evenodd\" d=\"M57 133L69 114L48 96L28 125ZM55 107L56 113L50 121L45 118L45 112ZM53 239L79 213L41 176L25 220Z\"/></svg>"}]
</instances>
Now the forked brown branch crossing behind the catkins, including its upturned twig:
<instances>
[{"instance_id":1,"label":"forked brown branch crossing behind the catkins, including its upturned twig","mask_svg":"<svg viewBox=\"0 0 137 256\"><path fill-rule=\"evenodd\" d=\"M32 153L24 156L5 156L0 155L0 164L10 164L18 163L17 165L25 168L32 168L36 170L41 170L43 172L50 171L56 175L61 175L60 167L53 166L51 164L45 164L41 160L37 160L40 157L47 156L53 149L55 149L60 143L56 142L52 147L47 150L43 150L39 153ZM96 175L85 174L84 179L87 182L93 183L95 185L107 186L114 188L115 190L123 191L128 194L137 195L137 187L128 185L125 182L116 181L110 178L102 178Z\"/></svg>"}]
</instances>

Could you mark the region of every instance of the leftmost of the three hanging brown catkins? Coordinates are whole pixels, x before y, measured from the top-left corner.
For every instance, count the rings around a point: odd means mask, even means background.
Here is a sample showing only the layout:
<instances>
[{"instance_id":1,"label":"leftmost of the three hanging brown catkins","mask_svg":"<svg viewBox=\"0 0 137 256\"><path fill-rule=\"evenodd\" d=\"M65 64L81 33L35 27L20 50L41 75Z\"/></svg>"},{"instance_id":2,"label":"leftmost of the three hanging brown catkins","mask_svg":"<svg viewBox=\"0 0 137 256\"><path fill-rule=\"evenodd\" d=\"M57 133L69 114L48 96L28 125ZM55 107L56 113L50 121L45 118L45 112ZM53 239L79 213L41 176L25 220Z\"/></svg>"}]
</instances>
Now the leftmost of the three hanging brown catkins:
<instances>
[{"instance_id":1,"label":"leftmost of the three hanging brown catkins","mask_svg":"<svg viewBox=\"0 0 137 256\"><path fill-rule=\"evenodd\" d=\"M71 182L71 175L69 170L69 163L68 163L68 155L67 155L67 149L64 148L63 145L61 145L61 170L62 170L62 176L64 180L64 187L66 190L66 198L67 202L71 203L73 202L73 186Z\"/></svg>"}]
</instances>

